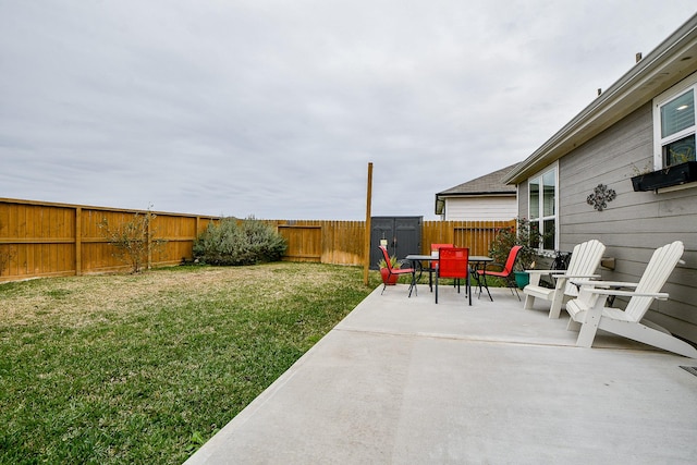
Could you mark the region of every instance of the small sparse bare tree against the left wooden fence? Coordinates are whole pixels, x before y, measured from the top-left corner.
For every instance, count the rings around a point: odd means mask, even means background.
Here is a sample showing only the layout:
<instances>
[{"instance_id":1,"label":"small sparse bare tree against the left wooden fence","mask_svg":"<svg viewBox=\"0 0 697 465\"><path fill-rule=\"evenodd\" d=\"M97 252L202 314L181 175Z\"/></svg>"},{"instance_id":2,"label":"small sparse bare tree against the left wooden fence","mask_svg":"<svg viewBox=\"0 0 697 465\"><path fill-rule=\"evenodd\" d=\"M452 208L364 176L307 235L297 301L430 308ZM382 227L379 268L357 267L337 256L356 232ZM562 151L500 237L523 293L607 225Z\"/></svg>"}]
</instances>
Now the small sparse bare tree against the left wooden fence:
<instances>
[{"instance_id":1,"label":"small sparse bare tree against the left wooden fence","mask_svg":"<svg viewBox=\"0 0 697 465\"><path fill-rule=\"evenodd\" d=\"M167 241L155 237L156 231L151 223L157 216L150 211L136 212L133 220L110 225L106 218L98 224L109 244L115 247L114 257L131 265L131 272L138 273L143 266L150 268L149 257L154 252L164 248Z\"/></svg>"}]
</instances>

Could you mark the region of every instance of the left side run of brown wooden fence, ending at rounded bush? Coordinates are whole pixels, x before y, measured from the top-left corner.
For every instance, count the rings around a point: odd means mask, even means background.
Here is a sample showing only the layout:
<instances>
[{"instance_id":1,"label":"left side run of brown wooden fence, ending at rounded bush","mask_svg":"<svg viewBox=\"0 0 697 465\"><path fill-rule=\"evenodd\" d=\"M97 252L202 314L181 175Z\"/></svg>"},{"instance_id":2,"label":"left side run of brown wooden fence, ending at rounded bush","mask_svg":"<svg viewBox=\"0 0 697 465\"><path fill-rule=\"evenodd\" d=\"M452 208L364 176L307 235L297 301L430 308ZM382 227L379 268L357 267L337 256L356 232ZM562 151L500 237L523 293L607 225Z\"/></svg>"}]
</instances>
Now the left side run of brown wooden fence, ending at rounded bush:
<instances>
[{"instance_id":1,"label":"left side run of brown wooden fence, ending at rounded bush","mask_svg":"<svg viewBox=\"0 0 697 465\"><path fill-rule=\"evenodd\" d=\"M99 228L133 221L125 210L80 205L0 198L0 281L129 270L113 256ZM167 244L149 257L148 266L167 266L191 259L192 245L216 217L154 212L151 234Z\"/></svg>"}]
</instances>

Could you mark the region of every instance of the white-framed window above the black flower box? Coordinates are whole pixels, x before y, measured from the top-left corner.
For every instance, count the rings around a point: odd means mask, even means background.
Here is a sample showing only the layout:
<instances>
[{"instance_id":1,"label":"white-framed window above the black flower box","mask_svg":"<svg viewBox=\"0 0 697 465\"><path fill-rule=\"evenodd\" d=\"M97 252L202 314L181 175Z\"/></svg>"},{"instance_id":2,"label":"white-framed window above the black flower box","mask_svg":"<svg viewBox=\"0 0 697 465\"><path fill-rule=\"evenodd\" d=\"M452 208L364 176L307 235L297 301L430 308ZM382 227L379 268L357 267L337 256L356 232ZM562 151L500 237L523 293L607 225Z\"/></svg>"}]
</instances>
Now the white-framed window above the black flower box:
<instances>
[{"instance_id":1,"label":"white-framed window above the black flower box","mask_svg":"<svg viewBox=\"0 0 697 465\"><path fill-rule=\"evenodd\" d=\"M695 95L697 76L653 100L653 166L657 170L696 161Z\"/></svg>"}]
</instances>

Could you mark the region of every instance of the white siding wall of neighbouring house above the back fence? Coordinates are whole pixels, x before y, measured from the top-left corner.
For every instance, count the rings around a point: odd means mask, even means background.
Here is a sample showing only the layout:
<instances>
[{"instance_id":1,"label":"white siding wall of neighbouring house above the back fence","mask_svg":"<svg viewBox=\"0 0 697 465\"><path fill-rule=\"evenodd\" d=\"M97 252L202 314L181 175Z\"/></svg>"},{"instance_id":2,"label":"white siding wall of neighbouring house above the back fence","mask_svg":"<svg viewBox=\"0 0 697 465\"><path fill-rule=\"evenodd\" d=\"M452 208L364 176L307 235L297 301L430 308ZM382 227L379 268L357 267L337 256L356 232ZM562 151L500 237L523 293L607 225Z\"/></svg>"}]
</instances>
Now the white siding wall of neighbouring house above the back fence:
<instances>
[{"instance_id":1,"label":"white siding wall of neighbouring house above the back fence","mask_svg":"<svg viewBox=\"0 0 697 465\"><path fill-rule=\"evenodd\" d=\"M508 221L516 215L515 196L445 198L447 221Z\"/></svg>"}]
</instances>

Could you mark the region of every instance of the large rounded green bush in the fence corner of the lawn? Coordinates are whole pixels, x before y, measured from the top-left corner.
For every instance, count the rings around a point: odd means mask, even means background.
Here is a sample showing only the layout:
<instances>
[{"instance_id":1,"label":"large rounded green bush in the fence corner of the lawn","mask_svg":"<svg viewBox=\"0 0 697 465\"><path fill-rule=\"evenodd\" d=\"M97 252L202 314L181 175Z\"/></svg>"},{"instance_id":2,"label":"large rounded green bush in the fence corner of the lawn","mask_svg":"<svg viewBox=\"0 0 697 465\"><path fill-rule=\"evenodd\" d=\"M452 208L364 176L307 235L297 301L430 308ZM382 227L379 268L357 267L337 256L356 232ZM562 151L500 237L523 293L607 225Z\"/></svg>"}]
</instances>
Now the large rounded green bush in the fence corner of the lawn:
<instances>
[{"instance_id":1,"label":"large rounded green bush in the fence corner of the lawn","mask_svg":"<svg viewBox=\"0 0 697 465\"><path fill-rule=\"evenodd\" d=\"M255 265L280 260L285 248L285 240L272 227L253 217L223 218L196 238L194 258L208 265Z\"/></svg>"}]
</instances>

